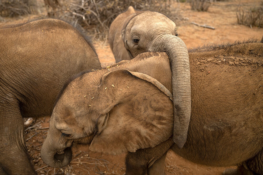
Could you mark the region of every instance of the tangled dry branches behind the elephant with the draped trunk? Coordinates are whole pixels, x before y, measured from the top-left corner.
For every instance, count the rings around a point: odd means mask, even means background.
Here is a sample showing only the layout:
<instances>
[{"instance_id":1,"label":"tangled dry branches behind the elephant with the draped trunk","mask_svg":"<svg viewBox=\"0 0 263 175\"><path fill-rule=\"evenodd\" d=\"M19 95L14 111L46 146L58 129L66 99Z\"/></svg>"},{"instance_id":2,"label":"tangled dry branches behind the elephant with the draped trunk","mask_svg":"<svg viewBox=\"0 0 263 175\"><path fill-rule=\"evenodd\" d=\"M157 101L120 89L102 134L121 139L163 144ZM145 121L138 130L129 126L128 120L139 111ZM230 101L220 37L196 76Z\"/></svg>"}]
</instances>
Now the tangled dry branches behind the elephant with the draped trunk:
<instances>
[{"instance_id":1,"label":"tangled dry branches behind the elephant with the draped trunk","mask_svg":"<svg viewBox=\"0 0 263 175\"><path fill-rule=\"evenodd\" d=\"M107 38L112 21L129 6L137 10L157 11L172 17L172 20L180 18L180 15L171 16L170 0L64 0L62 4L64 9L60 17L79 23L97 39ZM176 9L173 9L173 14L174 10Z\"/></svg>"}]
</instances>

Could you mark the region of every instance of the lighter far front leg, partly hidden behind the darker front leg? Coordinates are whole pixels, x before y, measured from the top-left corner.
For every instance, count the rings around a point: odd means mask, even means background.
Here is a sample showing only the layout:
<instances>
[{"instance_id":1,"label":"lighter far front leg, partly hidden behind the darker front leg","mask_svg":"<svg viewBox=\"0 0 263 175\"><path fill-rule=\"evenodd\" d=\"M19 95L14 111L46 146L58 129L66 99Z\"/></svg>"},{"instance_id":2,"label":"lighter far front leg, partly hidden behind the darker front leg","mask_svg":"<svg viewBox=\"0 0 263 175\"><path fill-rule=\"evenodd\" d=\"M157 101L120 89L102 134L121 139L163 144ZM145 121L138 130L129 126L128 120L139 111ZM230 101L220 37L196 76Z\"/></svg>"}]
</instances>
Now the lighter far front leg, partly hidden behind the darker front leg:
<instances>
[{"instance_id":1,"label":"lighter far front leg, partly hidden behind the darker front leg","mask_svg":"<svg viewBox=\"0 0 263 175\"><path fill-rule=\"evenodd\" d=\"M166 152L167 153L167 152ZM165 165L165 158L166 153L163 154L158 160L156 160L152 166L148 168L149 175L164 175L164 165Z\"/></svg>"}]
</instances>

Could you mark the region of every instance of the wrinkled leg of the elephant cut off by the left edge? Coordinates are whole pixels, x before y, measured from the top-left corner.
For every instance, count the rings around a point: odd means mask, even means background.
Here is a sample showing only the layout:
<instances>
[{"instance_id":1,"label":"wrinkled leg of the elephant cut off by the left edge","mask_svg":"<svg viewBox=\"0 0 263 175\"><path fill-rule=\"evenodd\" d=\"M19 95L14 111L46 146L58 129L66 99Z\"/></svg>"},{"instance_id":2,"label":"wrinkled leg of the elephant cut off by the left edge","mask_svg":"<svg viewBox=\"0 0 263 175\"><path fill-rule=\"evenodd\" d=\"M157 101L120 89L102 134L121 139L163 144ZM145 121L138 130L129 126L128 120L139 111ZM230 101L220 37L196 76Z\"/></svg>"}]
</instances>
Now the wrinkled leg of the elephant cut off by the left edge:
<instances>
[{"instance_id":1,"label":"wrinkled leg of the elephant cut off by the left edge","mask_svg":"<svg viewBox=\"0 0 263 175\"><path fill-rule=\"evenodd\" d=\"M0 99L0 172L35 174L26 152L18 101L9 99Z\"/></svg>"}]
</instances>

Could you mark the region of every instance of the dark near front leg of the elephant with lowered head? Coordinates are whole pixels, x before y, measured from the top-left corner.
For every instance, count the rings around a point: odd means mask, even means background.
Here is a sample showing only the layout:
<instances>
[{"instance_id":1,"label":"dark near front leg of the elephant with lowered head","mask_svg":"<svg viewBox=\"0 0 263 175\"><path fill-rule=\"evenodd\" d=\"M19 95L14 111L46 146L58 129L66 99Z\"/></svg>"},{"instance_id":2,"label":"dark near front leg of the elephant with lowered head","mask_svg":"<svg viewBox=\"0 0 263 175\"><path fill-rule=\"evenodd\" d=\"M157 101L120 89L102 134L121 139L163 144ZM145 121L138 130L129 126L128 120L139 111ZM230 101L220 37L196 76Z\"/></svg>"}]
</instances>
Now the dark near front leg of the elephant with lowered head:
<instances>
[{"instance_id":1,"label":"dark near front leg of the elephant with lowered head","mask_svg":"<svg viewBox=\"0 0 263 175\"><path fill-rule=\"evenodd\" d=\"M160 163L163 161L163 157L165 158L164 154L169 150L169 148L173 145L172 138L156 145L153 148L144 148L139 149L136 152L129 152L126 156L126 174L127 175L143 175L148 172L149 173L156 171L155 167L160 167ZM150 168L156 160L159 160L152 168ZM148 169L150 168L150 169ZM160 172L163 172L163 167ZM155 173L156 174L156 173Z\"/></svg>"}]
</instances>

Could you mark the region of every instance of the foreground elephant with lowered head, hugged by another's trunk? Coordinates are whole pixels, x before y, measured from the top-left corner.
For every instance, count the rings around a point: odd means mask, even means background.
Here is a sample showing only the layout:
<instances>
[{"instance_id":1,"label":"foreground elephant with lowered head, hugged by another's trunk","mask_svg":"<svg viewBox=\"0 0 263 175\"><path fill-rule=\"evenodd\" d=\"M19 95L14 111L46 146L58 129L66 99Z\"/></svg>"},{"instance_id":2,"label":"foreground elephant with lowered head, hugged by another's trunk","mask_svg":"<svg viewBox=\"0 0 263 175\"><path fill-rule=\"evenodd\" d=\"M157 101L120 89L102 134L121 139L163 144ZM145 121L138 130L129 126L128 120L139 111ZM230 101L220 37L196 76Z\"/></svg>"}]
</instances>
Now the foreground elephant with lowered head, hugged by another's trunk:
<instances>
[{"instance_id":1,"label":"foreground elephant with lowered head, hugged by another's trunk","mask_svg":"<svg viewBox=\"0 0 263 175\"><path fill-rule=\"evenodd\" d=\"M128 175L162 174L169 149L195 163L239 164L243 174L263 174L262 46L234 44L189 53L192 113L182 149L171 138L172 81L165 53L142 53L79 76L54 107L43 161L65 166L72 146L90 144L92 151L128 152Z\"/></svg>"}]
</instances>

